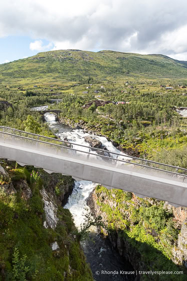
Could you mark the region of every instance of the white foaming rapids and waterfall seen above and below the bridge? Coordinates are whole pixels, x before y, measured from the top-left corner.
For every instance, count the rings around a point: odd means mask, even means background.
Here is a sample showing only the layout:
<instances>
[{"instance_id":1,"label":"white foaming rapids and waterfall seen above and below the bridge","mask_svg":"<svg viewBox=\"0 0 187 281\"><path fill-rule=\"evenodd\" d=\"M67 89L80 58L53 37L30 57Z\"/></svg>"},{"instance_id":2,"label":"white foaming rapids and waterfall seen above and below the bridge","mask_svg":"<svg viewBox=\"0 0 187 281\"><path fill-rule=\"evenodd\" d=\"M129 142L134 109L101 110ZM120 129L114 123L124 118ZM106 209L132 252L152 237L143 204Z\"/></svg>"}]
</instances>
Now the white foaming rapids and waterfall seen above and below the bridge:
<instances>
[{"instance_id":1,"label":"white foaming rapids and waterfall seen above and below the bridge","mask_svg":"<svg viewBox=\"0 0 187 281\"><path fill-rule=\"evenodd\" d=\"M44 117L50 127L56 127L56 125L59 124L59 122L56 121L55 114L45 113ZM108 141L107 138L104 136L89 134L84 132L82 129L73 129L72 131L58 132L56 133L56 135L59 136L62 140L66 139L68 140L68 142L88 147L87 149L85 147L73 145L74 149L81 150L84 152L89 151L90 148L89 143L85 141L85 136L91 136L92 138L95 138L100 141L109 152L121 154L120 158L125 159L125 154L121 153L118 149L116 149L112 145L112 143ZM84 214L87 213L84 208L86 207L89 211L89 208L86 205L86 199L96 186L96 183L92 183L90 181L75 181L74 190L68 199L68 203L64 206L64 208L69 209L72 213L75 225L78 228L80 228L80 225L84 222Z\"/></svg>"}]
</instances>

